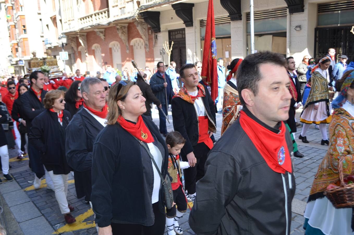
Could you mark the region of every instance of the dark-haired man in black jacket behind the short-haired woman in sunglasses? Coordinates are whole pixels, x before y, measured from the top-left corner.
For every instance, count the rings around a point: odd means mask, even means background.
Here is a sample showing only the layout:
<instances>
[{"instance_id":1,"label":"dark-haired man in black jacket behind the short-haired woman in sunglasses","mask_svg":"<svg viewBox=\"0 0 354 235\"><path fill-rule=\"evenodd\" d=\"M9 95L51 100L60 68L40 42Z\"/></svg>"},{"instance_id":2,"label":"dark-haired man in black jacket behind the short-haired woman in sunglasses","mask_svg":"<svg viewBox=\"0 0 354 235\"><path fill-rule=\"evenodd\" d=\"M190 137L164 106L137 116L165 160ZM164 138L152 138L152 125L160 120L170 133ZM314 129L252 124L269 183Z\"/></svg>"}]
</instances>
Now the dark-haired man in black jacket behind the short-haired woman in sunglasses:
<instances>
[{"instance_id":1,"label":"dark-haired man in black jacket behind the short-haired woman in sunglasses","mask_svg":"<svg viewBox=\"0 0 354 235\"><path fill-rule=\"evenodd\" d=\"M43 90L44 86L44 73L41 71L34 71L29 75L31 81L30 89L21 95L20 99L23 105L24 113L27 117L27 133L30 135L32 120L37 117L41 112L45 110L43 106L43 100L47 91ZM54 190L53 181L50 178L47 170L44 168L41 161L40 153L34 148L34 146L28 143L28 156L30 161L30 167L35 173L33 186L38 189L41 185L41 178L45 175L47 188Z\"/></svg>"}]
</instances>

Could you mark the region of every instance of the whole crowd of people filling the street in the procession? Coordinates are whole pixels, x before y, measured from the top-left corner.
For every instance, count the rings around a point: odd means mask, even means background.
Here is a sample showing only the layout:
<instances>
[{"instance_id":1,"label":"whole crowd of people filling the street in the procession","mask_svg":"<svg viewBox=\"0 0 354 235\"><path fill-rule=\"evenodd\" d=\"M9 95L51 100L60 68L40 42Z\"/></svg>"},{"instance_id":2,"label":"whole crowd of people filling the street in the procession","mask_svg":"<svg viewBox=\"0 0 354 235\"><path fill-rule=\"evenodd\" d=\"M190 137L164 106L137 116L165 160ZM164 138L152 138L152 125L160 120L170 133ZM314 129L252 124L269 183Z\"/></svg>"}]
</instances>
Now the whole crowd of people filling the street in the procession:
<instances>
[{"instance_id":1,"label":"whole crowd of people filling the street in the procession","mask_svg":"<svg viewBox=\"0 0 354 235\"><path fill-rule=\"evenodd\" d=\"M102 78L76 70L72 78L34 71L17 83L8 79L0 95L2 172L13 180L8 149L16 146L19 160L28 152L34 188L45 177L72 224L72 171L76 196L90 203L99 235L162 235L165 228L168 235L183 234L178 220L188 201L196 234L290 234L291 156L304 157L295 133L302 125L298 138L308 143L315 124L329 150L310 191L304 228L307 235L351 234L352 210L335 209L324 194L339 180L339 159L343 172L354 174L354 58L347 65L341 55L336 63L335 54L331 48L322 58L304 56L297 67L293 57L272 52L236 58L227 68L218 58L215 101L200 61L178 73L172 61L167 68L158 62L155 73L125 68L119 75L107 66ZM216 113L223 117L217 142Z\"/></svg>"}]
</instances>

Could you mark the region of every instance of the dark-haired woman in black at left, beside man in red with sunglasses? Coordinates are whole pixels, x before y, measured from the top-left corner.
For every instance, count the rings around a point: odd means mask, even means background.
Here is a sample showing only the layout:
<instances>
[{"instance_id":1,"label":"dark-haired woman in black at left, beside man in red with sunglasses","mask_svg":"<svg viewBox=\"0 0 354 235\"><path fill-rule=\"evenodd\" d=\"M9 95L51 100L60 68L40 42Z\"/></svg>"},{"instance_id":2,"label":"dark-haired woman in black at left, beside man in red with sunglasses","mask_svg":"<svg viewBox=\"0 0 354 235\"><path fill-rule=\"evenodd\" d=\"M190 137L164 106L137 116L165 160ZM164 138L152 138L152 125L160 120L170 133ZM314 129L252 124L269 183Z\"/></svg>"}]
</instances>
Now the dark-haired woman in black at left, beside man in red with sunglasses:
<instances>
[{"instance_id":1,"label":"dark-haired woman in black at left, beside man in red with sunglasses","mask_svg":"<svg viewBox=\"0 0 354 235\"><path fill-rule=\"evenodd\" d=\"M21 95L28 91L27 84L21 83L18 85L17 92L18 98L13 102L11 116L18 123L18 132L21 135L21 151L22 155L18 156L17 159L23 159L26 155L25 145L27 145L27 127L26 127L26 117L23 110Z\"/></svg>"}]
</instances>

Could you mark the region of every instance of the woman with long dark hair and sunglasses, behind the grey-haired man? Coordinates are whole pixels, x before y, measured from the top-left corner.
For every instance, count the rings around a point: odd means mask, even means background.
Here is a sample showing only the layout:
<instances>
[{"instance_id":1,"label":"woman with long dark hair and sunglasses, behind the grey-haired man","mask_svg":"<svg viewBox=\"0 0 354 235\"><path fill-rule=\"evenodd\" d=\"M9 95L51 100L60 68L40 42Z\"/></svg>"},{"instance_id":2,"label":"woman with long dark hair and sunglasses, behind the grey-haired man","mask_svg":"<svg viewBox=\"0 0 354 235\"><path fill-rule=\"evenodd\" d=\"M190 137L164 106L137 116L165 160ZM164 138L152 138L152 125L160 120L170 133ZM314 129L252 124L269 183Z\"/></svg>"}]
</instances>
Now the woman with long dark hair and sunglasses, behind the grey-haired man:
<instances>
[{"instance_id":1,"label":"woman with long dark hair and sunglasses, behind the grey-haired man","mask_svg":"<svg viewBox=\"0 0 354 235\"><path fill-rule=\"evenodd\" d=\"M65 93L65 110L68 110L71 116L74 116L82 106L84 99L82 99L80 91L81 81L74 81L69 90Z\"/></svg>"}]
</instances>

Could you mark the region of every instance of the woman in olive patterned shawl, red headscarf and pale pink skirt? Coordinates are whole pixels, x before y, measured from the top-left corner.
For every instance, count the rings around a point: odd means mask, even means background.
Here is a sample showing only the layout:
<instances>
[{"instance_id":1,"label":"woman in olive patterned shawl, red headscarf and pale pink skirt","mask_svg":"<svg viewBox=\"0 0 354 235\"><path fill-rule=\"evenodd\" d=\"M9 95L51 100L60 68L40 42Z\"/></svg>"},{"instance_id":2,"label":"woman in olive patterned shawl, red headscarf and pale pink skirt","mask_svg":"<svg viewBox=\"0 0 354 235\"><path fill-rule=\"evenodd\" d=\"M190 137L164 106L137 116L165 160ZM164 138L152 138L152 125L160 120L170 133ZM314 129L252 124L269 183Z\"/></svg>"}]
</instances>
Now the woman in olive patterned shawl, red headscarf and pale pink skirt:
<instances>
[{"instance_id":1,"label":"woman in olive patterned shawl, red headscarf and pale pink skirt","mask_svg":"<svg viewBox=\"0 0 354 235\"><path fill-rule=\"evenodd\" d=\"M331 122L331 104L326 70L330 63L330 58L325 56L312 69L311 90L300 116L300 122L303 123L303 127L299 139L304 143L309 142L306 138L306 132L310 125L315 123L319 125L322 135L321 145L329 145L326 124Z\"/></svg>"}]
</instances>

